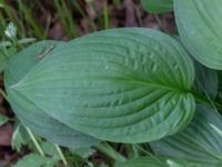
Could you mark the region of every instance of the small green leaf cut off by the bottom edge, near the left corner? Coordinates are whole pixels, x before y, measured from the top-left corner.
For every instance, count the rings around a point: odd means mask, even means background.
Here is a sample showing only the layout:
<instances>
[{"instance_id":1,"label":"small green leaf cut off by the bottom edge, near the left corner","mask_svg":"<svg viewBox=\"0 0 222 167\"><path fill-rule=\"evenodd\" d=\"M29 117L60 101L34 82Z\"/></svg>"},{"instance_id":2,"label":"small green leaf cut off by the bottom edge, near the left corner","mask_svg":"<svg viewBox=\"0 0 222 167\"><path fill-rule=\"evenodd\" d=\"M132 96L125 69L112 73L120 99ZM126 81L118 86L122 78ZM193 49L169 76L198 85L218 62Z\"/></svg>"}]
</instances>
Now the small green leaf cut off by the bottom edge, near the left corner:
<instances>
[{"instance_id":1,"label":"small green leaf cut off by the bottom edge, near the left corner","mask_svg":"<svg viewBox=\"0 0 222 167\"><path fill-rule=\"evenodd\" d=\"M53 167L57 161L52 158L42 157L37 154L24 156L12 167Z\"/></svg>"}]
</instances>

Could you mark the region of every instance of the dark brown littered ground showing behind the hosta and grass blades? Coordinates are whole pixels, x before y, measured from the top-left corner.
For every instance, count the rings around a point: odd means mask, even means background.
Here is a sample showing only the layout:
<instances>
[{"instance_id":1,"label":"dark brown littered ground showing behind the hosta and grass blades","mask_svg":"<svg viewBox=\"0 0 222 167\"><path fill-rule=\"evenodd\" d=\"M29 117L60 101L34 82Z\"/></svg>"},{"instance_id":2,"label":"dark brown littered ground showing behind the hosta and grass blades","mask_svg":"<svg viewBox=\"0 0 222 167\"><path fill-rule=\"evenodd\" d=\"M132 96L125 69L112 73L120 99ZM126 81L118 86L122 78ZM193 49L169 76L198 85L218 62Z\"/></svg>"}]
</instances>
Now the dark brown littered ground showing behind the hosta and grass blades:
<instances>
[{"instance_id":1,"label":"dark brown littered ground showing behind the hosta and grass blades","mask_svg":"<svg viewBox=\"0 0 222 167\"><path fill-rule=\"evenodd\" d=\"M59 13L54 7L53 0L23 0L27 7L31 10L32 17L40 29L46 29L48 26L48 31L46 39L56 40L70 40L87 33L104 29L103 11L104 3L107 4L109 14L109 28L119 27L144 27L159 29L168 33L175 33L175 23L173 13L164 14L151 14L145 12L139 0L94 0L91 3L87 3L84 0L78 0L79 6L84 13L83 17L80 11L74 7L70 0L67 0L68 7L71 9L72 19L74 22L75 35L70 36L64 24L59 17ZM19 10L17 0L6 0L7 4L10 7L10 12L13 19L18 22L18 26L23 29L26 37L34 37L40 39L33 31L33 28L28 21L23 21L28 13L21 13ZM11 20L7 12L0 8L0 14L4 18L6 22L9 23ZM50 21L49 21L50 20ZM3 30L1 29L1 38L3 37ZM18 35L18 38L22 38L24 35ZM0 73L0 87L3 88L2 73ZM0 115L6 115L11 118L9 122L0 126L0 167L7 166L11 163L17 161L23 155L29 153L29 149L23 148L21 153L17 153L11 149L11 137L13 132L13 112L11 108L0 96ZM105 157L98 154L92 157L94 161L105 160Z\"/></svg>"}]
</instances>

